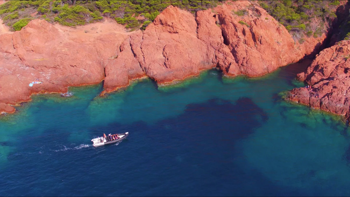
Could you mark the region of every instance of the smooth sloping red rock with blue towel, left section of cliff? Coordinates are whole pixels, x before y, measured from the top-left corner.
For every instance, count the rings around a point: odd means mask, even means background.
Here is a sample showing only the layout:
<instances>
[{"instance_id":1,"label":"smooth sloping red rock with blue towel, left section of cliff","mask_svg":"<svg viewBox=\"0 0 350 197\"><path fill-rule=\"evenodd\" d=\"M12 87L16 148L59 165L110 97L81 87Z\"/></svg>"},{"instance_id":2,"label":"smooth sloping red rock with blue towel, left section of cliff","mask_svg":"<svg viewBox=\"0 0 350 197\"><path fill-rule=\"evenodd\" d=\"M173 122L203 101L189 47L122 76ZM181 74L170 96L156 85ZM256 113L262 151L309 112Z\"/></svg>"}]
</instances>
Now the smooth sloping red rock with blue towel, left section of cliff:
<instances>
[{"instance_id":1,"label":"smooth sloping red rock with blue towel, left section of cliff","mask_svg":"<svg viewBox=\"0 0 350 197\"><path fill-rule=\"evenodd\" d=\"M0 102L15 105L30 101L31 94L101 82L105 64L128 38L123 26L121 32L108 31L109 26L118 30L114 21L73 29L37 19L21 31L0 35ZM30 87L36 79L42 83Z\"/></svg>"}]
</instances>

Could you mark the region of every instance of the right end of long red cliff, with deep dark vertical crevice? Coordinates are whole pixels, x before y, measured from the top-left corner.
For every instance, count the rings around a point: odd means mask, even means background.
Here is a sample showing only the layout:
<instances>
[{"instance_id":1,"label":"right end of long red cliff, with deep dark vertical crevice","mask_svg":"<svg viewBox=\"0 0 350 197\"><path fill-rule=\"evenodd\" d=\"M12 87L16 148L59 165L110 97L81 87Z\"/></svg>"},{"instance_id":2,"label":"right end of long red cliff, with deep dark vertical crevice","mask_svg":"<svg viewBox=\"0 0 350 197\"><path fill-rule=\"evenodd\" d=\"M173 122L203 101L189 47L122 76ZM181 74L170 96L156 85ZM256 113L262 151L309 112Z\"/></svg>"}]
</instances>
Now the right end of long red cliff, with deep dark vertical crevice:
<instances>
[{"instance_id":1,"label":"right end of long red cliff, with deep dark vertical crevice","mask_svg":"<svg viewBox=\"0 0 350 197\"><path fill-rule=\"evenodd\" d=\"M232 12L241 9L248 13L238 16ZM224 43L235 60L231 65L219 64L229 76L261 76L272 72L311 54L325 39L323 35L319 41L305 38L302 44L295 42L284 26L254 2L237 1L214 10Z\"/></svg>"}]
</instances>

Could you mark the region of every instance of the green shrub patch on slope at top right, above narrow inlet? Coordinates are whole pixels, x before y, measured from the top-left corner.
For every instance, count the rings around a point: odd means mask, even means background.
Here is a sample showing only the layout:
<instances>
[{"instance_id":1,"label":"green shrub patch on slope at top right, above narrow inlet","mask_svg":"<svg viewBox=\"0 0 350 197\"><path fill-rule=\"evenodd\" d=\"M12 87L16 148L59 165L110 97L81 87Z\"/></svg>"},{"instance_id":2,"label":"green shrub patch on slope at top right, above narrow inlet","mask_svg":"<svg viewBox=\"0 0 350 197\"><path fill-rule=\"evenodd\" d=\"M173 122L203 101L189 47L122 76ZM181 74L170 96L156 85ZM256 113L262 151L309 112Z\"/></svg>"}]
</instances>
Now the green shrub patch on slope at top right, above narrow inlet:
<instances>
[{"instance_id":1,"label":"green shrub patch on slope at top right, above narrow inlet","mask_svg":"<svg viewBox=\"0 0 350 197\"><path fill-rule=\"evenodd\" d=\"M336 18L334 13L339 1L323 0L279 0L259 1L259 4L278 22L286 27L291 34L306 34L321 36L322 32ZM317 27L311 27L311 21ZM302 38L301 36L298 36Z\"/></svg>"}]
</instances>

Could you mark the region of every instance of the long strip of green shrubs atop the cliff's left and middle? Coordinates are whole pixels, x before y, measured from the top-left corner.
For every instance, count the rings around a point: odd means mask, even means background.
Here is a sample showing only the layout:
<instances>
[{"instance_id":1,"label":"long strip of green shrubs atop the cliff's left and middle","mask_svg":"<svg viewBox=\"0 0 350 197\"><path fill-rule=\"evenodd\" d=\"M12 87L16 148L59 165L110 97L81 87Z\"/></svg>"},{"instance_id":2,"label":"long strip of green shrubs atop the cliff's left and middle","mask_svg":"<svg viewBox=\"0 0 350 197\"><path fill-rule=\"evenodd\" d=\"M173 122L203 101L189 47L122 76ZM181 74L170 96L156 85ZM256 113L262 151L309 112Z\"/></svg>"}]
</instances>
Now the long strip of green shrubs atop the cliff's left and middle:
<instances>
[{"instance_id":1,"label":"long strip of green shrubs atop the cliff's left and middle","mask_svg":"<svg viewBox=\"0 0 350 197\"><path fill-rule=\"evenodd\" d=\"M0 16L12 30L21 29L24 21L29 22L33 17L65 26L85 25L108 17L126 28L135 29L142 24L141 29L145 29L169 5L195 13L218 3L215 0L12 0L0 5ZM35 12L37 15L32 17Z\"/></svg>"}]
</instances>

